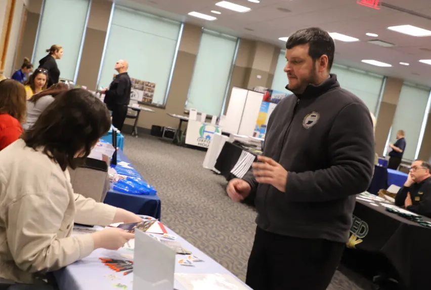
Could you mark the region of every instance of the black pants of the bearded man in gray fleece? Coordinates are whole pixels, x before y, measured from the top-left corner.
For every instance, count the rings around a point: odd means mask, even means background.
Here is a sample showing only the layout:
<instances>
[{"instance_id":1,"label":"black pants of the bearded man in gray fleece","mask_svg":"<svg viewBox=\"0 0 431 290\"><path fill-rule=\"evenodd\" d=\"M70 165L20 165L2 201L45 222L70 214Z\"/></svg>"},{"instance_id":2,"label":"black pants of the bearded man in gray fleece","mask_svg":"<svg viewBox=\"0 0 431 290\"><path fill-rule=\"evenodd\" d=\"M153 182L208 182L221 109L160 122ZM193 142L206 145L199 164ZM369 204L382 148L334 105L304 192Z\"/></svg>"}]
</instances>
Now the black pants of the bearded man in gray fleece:
<instances>
[{"instance_id":1,"label":"black pants of the bearded man in gray fleece","mask_svg":"<svg viewBox=\"0 0 431 290\"><path fill-rule=\"evenodd\" d=\"M344 245L282 236L257 227L245 282L253 290L325 290Z\"/></svg>"}]
</instances>

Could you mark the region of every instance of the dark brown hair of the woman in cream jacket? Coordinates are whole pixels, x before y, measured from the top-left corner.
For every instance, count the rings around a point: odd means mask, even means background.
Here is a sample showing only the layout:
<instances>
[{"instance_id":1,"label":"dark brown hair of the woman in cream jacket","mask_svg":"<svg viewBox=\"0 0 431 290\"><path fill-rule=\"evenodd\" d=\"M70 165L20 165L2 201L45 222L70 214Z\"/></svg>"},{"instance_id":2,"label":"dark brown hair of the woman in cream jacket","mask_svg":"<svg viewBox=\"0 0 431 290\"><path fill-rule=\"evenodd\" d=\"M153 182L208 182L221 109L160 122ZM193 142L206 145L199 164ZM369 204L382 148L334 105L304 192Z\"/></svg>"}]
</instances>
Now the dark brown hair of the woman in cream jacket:
<instances>
[{"instance_id":1,"label":"dark brown hair of the woman in cream jacket","mask_svg":"<svg viewBox=\"0 0 431 290\"><path fill-rule=\"evenodd\" d=\"M77 153L87 157L100 137L111 127L105 104L87 90L73 89L59 95L22 135L28 147L44 148L63 171L75 169Z\"/></svg>"}]
</instances>

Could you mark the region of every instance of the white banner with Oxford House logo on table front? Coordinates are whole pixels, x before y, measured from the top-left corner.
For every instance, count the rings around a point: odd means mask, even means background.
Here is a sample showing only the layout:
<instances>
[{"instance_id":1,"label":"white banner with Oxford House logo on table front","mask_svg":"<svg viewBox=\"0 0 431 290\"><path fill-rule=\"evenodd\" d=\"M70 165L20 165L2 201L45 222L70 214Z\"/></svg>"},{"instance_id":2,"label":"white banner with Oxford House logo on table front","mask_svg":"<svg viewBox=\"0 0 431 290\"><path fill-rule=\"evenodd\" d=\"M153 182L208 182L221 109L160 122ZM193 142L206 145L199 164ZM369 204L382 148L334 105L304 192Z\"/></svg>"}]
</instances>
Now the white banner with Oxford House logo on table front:
<instances>
[{"instance_id":1,"label":"white banner with Oxford House logo on table front","mask_svg":"<svg viewBox=\"0 0 431 290\"><path fill-rule=\"evenodd\" d=\"M214 133L222 133L220 126L189 120L187 124L186 144L208 148Z\"/></svg>"}]
</instances>

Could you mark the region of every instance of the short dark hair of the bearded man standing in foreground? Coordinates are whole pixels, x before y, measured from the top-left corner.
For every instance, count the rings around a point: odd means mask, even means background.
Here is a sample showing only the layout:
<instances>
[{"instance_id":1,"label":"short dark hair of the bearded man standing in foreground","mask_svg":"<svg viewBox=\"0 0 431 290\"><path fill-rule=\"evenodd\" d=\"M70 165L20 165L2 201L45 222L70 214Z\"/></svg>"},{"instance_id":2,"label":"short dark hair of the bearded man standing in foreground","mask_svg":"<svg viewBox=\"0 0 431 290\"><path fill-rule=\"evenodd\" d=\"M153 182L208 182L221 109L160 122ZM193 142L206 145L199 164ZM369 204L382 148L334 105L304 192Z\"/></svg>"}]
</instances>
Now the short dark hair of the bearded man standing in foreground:
<instances>
[{"instance_id":1,"label":"short dark hair of the bearded man standing in foreground","mask_svg":"<svg viewBox=\"0 0 431 290\"><path fill-rule=\"evenodd\" d=\"M330 71L334 62L335 43L329 33L317 27L300 29L289 36L286 49L306 44L310 46L308 54L313 61L322 55L328 57L328 71Z\"/></svg>"}]
</instances>

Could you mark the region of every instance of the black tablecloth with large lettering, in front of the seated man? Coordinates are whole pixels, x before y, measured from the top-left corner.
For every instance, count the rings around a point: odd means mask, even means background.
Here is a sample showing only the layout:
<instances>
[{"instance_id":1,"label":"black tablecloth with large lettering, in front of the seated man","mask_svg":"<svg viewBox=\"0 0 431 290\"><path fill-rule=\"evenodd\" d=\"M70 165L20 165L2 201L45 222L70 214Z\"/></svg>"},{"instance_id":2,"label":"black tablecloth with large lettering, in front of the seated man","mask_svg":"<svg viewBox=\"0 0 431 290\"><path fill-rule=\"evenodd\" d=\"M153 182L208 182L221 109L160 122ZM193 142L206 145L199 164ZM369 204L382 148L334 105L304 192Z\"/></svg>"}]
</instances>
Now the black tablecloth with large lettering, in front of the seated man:
<instances>
[{"instance_id":1,"label":"black tablecloth with large lettering, in front of the seated man","mask_svg":"<svg viewBox=\"0 0 431 290\"><path fill-rule=\"evenodd\" d=\"M431 228L389 213L379 202L375 204L379 206L357 200L349 245L383 255L408 289L430 289Z\"/></svg>"}]
</instances>

